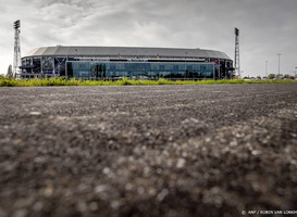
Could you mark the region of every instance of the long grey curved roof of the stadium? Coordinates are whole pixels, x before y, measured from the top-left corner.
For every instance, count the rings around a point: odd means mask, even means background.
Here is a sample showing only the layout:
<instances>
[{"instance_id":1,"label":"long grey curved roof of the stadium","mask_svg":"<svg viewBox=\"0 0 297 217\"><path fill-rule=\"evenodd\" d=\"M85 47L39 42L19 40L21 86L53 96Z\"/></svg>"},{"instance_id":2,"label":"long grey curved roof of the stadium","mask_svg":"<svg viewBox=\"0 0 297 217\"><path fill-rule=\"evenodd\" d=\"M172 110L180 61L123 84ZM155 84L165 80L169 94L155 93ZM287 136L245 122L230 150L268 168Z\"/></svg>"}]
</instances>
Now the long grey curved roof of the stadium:
<instances>
[{"instance_id":1,"label":"long grey curved roof of the stadium","mask_svg":"<svg viewBox=\"0 0 297 217\"><path fill-rule=\"evenodd\" d=\"M231 60L221 51L181 48L138 47L42 47L29 51L26 56L150 56L150 58L211 58Z\"/></svg>"}]
</instances>

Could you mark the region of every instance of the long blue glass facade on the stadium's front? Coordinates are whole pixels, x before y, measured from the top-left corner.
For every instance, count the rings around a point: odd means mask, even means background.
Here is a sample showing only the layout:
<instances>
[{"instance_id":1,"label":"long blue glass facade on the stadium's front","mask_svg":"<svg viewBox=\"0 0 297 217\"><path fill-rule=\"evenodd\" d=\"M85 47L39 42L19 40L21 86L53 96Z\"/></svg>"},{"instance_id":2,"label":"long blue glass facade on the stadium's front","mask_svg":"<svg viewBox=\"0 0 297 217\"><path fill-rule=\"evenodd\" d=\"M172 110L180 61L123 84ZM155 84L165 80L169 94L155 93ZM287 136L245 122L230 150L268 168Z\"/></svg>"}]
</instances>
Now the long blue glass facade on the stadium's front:
<instances>
[{"instance_id":1,"label":"long blue glass facade on the stadium's front","mask_svg":"<svg viewBox=\"0 0 297 217\"><path fill-rule=\"evenodd\" d=\"M194 78L213 79L213 63L66 62L66 76L74 78Z\"/></svg>"}]
</instances>

